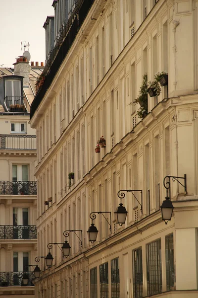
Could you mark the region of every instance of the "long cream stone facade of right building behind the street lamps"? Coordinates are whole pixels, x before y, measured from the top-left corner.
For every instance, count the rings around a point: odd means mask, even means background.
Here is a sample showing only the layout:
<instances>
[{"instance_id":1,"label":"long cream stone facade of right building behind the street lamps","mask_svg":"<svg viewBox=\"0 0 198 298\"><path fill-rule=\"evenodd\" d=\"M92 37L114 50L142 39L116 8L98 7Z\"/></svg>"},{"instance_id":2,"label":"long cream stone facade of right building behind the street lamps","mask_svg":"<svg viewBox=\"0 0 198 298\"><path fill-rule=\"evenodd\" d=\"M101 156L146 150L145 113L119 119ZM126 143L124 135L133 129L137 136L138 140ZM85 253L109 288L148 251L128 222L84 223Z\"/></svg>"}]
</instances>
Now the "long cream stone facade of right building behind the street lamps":
<instances>
[{"instance_id":1,"label":"long cream stone facade of right building behind the street lamps","mask_svg":"<svg viewBox=\"0 0 198 298\"><path fill-rule=\"evenodd\" d=\"M53 1L56 8L60 3ZM53 245L53 265L47 269L41 260L35 296L196 298L198 1L80 3L56 58L47 62L30 124L38 140L38 254L47 255L49 242L63 243L65 230L82 230L82 247L73 232L68 258ZM152 81L161 71L168 87L148 95L148 114L140 119L133 102L143 75ZM101 136L106 147L96 153ZM186 191L171 179L174 213L165 224L163 179L185 174ZM127 193L127 220L119 226L117 192L129 189L142 190L143 212ZM99 230L94 244L87 235L92 212ZM111 230L98 212L106 212Z\"/></svg>"}]
</instances>

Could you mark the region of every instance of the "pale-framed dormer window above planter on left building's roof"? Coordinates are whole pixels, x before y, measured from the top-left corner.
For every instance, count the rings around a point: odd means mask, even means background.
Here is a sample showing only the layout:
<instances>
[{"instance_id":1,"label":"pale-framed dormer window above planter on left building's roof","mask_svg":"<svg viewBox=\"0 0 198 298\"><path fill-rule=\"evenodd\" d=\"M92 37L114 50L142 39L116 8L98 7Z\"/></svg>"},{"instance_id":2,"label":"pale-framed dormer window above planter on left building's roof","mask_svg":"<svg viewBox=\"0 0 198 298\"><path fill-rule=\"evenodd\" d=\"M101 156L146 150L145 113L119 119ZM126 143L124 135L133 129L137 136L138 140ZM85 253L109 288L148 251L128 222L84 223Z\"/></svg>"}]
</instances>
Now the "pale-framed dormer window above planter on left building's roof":
<instances>
[{"instance_id":1,"label":"pale-framed dormer window above planter on left building's roof","mask_svg":"<svg viewBox=\"0 0 198 298\"><path fill-rule=\"evenodd\" d=\"M5 104L7 108L15 104L23 104L21 96L21 80L6 79L5 80Z\"/></svg>"}]
</instances>

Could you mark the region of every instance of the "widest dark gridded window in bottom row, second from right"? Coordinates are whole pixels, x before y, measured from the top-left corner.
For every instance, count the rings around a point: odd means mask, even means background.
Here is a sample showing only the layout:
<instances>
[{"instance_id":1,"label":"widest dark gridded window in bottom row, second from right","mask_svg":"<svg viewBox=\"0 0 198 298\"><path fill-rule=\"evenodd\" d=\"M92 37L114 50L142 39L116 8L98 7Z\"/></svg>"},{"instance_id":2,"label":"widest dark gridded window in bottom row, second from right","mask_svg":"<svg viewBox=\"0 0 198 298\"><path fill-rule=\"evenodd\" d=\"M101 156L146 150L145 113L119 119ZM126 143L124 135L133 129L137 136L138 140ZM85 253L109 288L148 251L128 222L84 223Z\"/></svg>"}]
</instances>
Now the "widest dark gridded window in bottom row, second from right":
<instances>
[{"instance_id":1,"label":"widest dark gridded window in bottom row, second from right","mask_svg":"<svg viewBox=\"0 0 198 298\"><path fill-rule=\"evenodd\" d=\"M147 295L161 292L161 239L158 239L147 244Z\"/></svg>"}]
</instances>

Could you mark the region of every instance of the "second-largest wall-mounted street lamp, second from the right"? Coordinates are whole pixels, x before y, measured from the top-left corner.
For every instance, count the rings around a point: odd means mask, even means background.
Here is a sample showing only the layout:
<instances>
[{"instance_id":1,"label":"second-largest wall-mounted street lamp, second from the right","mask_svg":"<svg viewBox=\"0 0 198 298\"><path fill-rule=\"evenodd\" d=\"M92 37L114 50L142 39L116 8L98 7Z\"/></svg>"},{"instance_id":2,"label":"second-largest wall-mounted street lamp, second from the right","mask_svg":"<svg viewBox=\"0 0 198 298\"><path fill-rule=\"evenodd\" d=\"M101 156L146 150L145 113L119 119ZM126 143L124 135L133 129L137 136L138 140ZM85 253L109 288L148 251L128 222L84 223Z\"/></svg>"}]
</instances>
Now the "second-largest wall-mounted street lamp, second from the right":
<instances>
[{"instance_id":1,"label":"second-largest wall-mounted street lamp, second from the right","mask_svg":"<svg viewBox=\"0 0 198 298\"><path fill-rule=\"evenodd\" d=\"M138 201L137 197L134 195L134 191L139 191L141 193L141 203ZM122 189L119 190L117 193L117 196L120 198L120 204L119 206L116 208L114 214L115 214L115 221L116 224L119 224L120 226L122 226L122 224L125 224L126 218L127 218L127 210L126 208L123 206L122 204L122 199L125 197L125 193L124 192L131 192L132 195L134 196L134 198L137 200L137 202L140 204L141 208L140 211L143 214L143 195L142 195L142 190L139 189Z\"/></svg>"}]
</instances>

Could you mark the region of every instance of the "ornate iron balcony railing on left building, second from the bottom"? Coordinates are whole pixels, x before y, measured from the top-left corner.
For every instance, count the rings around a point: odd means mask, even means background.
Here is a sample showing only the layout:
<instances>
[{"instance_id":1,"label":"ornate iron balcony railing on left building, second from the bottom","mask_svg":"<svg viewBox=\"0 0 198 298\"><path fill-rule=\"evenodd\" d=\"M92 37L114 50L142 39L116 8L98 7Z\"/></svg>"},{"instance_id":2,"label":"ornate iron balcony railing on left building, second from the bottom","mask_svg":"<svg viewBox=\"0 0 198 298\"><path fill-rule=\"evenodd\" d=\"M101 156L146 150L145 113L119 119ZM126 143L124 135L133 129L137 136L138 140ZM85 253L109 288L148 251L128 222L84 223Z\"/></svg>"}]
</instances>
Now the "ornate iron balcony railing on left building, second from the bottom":
<instances>
[{"instance_id":1,"label":"ornate iron balcony railing on left building, second from the bottom","mask_svg":"<svg viewBox=\"0 0 198 298\"><path fill-rule=\"evenodd\" d=\"M37 239L37 226L0 225L0 239Z\"/></svg>"}]
</instances>

